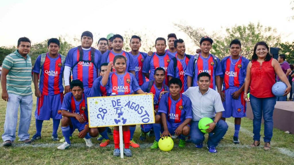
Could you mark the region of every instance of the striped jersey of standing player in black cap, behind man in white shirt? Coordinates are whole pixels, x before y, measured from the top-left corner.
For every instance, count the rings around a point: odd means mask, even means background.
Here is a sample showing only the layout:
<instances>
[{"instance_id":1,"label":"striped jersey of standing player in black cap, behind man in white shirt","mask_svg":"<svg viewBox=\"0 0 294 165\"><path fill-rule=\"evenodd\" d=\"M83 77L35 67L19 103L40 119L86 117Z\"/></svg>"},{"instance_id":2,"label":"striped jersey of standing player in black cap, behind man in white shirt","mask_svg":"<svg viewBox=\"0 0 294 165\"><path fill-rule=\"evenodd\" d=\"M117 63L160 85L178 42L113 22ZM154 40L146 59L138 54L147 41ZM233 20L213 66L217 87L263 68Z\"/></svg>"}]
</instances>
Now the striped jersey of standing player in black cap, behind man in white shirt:
<instances>
[{"instance_id":1,"label":"striped jersey of standing player in black cap, behind man in white shirt","mask_svg":"<svg viewBox=\"0 0 294 165\"><path fill-rule=\"evenodd\" d=\"M204 58L201 56L200 53L195 67L194 58L190 58L188 62L188 67L186 69L186 75L193 78L193 84L191 86L197 87L197 76L202 72L207 72L211 78L211 84L209 85L209 87L216 90L215 76L223 74L219 58L217 58L217 64L218 65L216 65L216 61L214 61L211 54L209 54L208 58Z\"/></svg>"}]
</instances>

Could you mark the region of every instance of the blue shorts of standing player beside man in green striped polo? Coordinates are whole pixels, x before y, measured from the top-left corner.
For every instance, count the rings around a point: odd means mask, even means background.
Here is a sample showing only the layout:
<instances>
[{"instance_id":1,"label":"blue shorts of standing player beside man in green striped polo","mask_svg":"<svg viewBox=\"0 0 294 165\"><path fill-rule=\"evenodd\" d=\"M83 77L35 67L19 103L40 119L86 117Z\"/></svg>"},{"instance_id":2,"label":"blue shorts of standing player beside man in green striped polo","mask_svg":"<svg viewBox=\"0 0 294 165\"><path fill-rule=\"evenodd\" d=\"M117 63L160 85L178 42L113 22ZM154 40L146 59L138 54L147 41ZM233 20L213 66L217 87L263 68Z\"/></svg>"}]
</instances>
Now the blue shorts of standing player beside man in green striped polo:
<instances>
[{"instance_id":1,"label":"blue shorts of standing player beside man in green striped polo","mask_svg":"<svg viewBox=\"0 0 294 165\"><path fill-rule=\"evenodd\" d=\"M37 97L35 118L38 120L61 119L61 113L58 111L61 109L62 100L63 93Z\"/></svg>"}]
</instances>

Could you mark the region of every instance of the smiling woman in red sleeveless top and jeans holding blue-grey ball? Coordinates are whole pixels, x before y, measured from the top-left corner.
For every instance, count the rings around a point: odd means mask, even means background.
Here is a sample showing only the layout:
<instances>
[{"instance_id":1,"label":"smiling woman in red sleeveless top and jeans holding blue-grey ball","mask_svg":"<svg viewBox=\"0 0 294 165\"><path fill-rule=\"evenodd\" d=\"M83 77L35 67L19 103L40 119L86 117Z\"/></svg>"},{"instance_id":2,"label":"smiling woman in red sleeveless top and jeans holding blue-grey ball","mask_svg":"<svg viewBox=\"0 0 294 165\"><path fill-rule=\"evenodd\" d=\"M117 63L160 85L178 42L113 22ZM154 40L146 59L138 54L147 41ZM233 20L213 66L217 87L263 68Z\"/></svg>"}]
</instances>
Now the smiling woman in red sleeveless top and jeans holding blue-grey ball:
<instances>
[{"instance_id":1,"label":"smiling woman in red sleeveless top and jeans holding blue-grey ball","mask_svg":"<svg viewBox=\"0 0 294 165\"><path fill-rule=\"evenodd\" d=\"M253 144L260 144L261 118L264 119L263 149L270 149L270 140L273 136L273 110L275 109L276 97L272 93L275 84L275 73L287 85L284 95L290 92L291 86L283 73L278 61L270 55L269 48L265 42L255 44L251 63L248 64L244 99L248 102L247 94L250 86L250 105L253 112Z\"/></svg>"}]
</instances>

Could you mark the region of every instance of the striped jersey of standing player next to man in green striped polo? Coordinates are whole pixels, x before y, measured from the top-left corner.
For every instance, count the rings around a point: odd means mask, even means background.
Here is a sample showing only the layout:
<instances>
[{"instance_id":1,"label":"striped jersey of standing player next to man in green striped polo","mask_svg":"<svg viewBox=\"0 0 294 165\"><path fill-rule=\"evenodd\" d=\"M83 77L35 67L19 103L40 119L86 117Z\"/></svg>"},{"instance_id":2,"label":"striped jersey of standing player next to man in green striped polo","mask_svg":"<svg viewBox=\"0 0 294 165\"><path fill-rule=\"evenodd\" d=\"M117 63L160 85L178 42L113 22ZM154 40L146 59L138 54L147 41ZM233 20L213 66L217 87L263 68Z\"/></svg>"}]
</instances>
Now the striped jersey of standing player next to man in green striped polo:
<instances>
[{"instance_id":1,"label":"striped jersey of standing player next to man in green striped polo","mask_svg":"<svg viewBox=\"0 0 294 165\"><path fill-rule=\"evenodd\" d=\"M41 65L41 55L36 59L33 72L39 73ZM61 62L61 56L57 58L51 58L48 53L44 64L41 69L39 90L42 95L51 96L63 92L63 80L62 74L64 70L64 64Z\"/></svg>"}]
</instances>

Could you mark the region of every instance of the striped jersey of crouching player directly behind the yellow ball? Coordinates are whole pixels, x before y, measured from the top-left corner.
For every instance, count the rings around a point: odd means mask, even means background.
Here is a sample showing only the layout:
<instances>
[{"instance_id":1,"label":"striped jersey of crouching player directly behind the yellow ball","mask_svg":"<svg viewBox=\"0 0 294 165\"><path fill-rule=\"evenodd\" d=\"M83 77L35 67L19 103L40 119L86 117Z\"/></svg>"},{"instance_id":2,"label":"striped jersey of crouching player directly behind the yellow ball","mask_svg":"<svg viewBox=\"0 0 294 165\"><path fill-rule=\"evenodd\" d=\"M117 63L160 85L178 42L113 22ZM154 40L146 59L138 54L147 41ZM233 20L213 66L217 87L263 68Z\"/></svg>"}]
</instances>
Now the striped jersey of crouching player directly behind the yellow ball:
<instances>
[{"instance_id":1,"label":"striped jersey of crouching player directly behind the yellow ball","mask_svg":"<svg viewBox=\"0 0 294 165\"><path fill-rule=\"evenodd\" d=\"M176 128L186 119L192 119L192 103L185 95L180 94L178 100L173 100L171 94L166 93L161 97L158 112L165 113L166 121Z\"/></svg>"}]
</instances>

